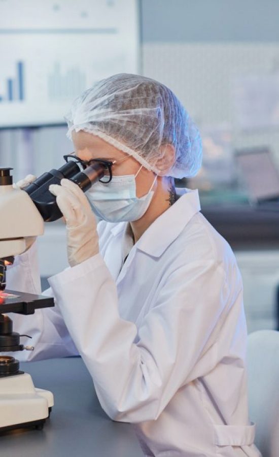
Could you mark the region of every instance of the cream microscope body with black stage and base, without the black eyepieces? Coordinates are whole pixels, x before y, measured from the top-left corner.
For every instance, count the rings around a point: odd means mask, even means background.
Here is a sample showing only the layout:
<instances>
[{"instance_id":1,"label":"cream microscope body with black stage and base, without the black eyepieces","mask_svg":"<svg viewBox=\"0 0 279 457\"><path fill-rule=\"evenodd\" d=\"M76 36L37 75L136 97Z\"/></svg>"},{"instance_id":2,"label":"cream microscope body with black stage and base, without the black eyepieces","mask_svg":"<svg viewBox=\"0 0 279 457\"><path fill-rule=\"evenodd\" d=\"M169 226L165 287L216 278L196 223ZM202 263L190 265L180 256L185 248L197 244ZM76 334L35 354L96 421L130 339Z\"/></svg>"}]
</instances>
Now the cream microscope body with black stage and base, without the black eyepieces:
<instances>
[{"instance_id":1,"label":"cream microscope body with black stage and base, without the black eyepieces","mask_svg":"<svg viewBox=\"0 0 279 457\"><path fill-rule=\"evenodd\" d=\"M26 238L44 233L44 219L29 195L14 188L11 177L4 178L4 184L3 180L0 184L0 291L6 288L6 267L15 255L25 251ZM53 394L34 387L31 376L19 370L16 358L6 355L33 348L20 344L11 318L2 313L32 314L36 308L54 306L54 302L8 290L2 296L5 298L0 304L0 432L22 427L41 429L54 404Z\"/></svg>"}]
</instances>

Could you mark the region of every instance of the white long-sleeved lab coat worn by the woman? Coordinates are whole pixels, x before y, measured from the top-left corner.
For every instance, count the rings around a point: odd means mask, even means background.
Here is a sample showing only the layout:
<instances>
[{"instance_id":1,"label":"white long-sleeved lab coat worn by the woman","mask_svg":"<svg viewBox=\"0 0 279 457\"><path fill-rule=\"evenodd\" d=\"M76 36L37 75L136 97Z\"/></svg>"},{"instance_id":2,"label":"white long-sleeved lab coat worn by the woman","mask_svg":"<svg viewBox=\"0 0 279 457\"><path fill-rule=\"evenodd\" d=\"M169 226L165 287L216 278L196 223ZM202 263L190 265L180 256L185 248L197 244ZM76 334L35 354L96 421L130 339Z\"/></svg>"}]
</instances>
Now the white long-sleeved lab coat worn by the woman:
<instances>
[{"instance_id":1,"label":"white long-sleeved lab coat worn by the woman","mask_svg":"<svg viewBox=\"0 0 279 457\"><path fill-rule=\"evenodd\" d=\"M126 223L100 222L100 253L49 279L56 308L14 315L14 328L33 337L30 360L79 352L102 408L134 423L145 455L255 457L241 277L199 210L187 191L122 270ZM18 257L9 288L38 292L34 251Z\"/></svg>"}]
</instances>

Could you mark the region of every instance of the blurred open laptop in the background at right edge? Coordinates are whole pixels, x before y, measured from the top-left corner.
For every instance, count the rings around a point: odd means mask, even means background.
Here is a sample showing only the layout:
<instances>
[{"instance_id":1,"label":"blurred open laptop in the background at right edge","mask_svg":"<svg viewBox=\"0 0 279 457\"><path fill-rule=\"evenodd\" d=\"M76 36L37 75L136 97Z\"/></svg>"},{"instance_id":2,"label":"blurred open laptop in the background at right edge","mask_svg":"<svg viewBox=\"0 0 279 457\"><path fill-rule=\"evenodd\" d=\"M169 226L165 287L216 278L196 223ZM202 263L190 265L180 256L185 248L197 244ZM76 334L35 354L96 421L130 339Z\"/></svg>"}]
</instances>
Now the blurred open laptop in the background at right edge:
<instances>
[{"instance_id":1,"label":"blurred open laptop in the background at right edge","mask_svg":"<svg viewBox=\"0 0 279 457\"><path fill-rule=\"evenodd\" d=\"M279 172L268 147L241 149L236 164L249 192L249 201L259 209L279 211Z\"/></svg>"}]
</instances>

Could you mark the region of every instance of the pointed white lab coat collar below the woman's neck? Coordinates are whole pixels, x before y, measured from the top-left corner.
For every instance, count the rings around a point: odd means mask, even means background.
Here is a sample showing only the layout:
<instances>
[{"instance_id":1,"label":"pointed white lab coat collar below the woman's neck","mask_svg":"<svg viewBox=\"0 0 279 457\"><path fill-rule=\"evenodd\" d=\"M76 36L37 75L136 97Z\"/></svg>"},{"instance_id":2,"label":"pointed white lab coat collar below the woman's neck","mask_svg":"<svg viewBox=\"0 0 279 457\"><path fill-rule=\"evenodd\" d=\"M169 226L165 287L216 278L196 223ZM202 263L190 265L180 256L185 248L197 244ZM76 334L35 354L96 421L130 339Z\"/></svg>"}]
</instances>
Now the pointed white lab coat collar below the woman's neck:
<instances>
[{"instance_id":1,"label":"pointed white lab coat collar below the woman's neck","mask_svg":"<svg viewBox=\"0 0 279 457\"><path fill-rule=\"evenodd\" d=\"M183 228L200 211L197 190L177 188L180 199L168 208L148 227L140 240L135 244L138 250L154 257L159 257L174 241ZM125 230L127 222L120 222L111 228L114 236Z\"/></svg>"}]
</instances>

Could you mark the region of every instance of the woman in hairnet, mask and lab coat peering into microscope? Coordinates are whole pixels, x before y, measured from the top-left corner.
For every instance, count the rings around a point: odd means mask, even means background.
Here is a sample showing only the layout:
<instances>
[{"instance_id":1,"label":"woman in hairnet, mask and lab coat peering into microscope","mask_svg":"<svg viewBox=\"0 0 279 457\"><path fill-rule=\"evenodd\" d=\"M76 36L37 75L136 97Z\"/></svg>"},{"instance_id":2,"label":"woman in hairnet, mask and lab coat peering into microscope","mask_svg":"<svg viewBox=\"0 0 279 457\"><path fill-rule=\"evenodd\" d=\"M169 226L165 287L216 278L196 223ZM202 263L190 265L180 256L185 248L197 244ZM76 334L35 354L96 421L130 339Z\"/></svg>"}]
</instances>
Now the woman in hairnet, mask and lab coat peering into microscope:
<instances>
[{"instance_id":1,"label":"woman in hairnet, mask and lab coat peering into microscope","mask_svg":"<svg viewBox=\"0 0 279 457\"><path fill-rule=\"evenodd\" d=\"M147 456L259 456L235 257L198 192L174 186L200 168L197 128L171 90L129 74L86 90L67 121L66 159L100 159L106 174L86 194L50 187L71 268L49 279L54 309L14 317L33 337L29 360L81 354L102 408L134 424ZM8 275L40 292L36 244Z\"/></svg>"}]
</instances>

